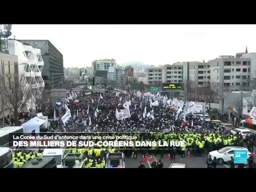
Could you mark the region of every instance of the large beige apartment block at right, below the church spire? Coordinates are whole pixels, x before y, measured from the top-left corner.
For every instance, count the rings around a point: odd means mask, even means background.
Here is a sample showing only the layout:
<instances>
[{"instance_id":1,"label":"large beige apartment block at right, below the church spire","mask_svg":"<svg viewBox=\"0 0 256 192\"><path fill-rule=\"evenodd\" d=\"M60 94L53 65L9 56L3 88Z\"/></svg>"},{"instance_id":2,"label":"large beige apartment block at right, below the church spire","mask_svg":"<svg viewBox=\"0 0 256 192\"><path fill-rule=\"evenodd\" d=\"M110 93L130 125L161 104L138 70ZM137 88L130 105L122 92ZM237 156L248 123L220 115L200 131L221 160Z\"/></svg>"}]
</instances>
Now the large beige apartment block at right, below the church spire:
<instances>
[{"instance_id":1,"label":"large beige apartment block at right, below the church spire","mask_svg":"<svg viewBox=\"0 0 256 192\"><path fill-rule=\"evenodd\" d=\"M220 56L209 61L210 81L216 84L216 88L230 91L250 90L251 61L241 55Z\"/></svg>"}]
</instances>

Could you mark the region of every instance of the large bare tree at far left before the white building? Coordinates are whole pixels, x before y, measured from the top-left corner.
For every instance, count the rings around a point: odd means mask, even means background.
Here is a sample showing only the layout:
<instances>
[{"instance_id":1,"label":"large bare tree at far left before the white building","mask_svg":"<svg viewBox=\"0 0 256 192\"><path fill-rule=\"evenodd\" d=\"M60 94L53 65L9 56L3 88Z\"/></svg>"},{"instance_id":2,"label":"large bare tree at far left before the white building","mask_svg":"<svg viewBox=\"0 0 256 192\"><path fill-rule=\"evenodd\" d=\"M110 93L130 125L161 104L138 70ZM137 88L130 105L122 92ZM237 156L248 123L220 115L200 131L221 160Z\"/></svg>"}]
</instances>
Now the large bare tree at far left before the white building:
<instances>
[{"instance_id":1,"label":"large bare tree at far left before the white building","mask_svg":"<svg viewBox=\"0 0 256 192\"><path fill-rule=\"evenodd\" d=\"M26 106L30 98L30 88L25 76L18 74L8 74L1 81L5 98L6 106L14 112L15 125L18 125L18 113L24 106Z\"/></svg>"}]
</instances>

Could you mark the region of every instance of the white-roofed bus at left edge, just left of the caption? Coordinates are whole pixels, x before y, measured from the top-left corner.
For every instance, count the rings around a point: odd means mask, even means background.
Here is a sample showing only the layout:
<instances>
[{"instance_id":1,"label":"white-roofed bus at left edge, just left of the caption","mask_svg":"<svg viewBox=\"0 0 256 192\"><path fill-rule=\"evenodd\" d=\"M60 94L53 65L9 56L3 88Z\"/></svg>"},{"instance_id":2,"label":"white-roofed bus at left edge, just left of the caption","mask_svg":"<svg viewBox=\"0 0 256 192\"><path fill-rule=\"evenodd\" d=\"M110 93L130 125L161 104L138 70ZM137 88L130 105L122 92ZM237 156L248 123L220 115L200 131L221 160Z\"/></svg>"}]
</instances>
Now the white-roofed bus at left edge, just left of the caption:
<instances>
[{"instance_id":1,"label":"white-roofed bus at left edge, just left of the caption","mask_svg":"<svg viewBox=\"0 0 256 192\"><path fill-rule=\"evenodd\" d=\"M22 135L23 128L18 126L0 128L0 147L12 147L12 133L16 133L17 136Z\"/></svg>"}]
</instances>

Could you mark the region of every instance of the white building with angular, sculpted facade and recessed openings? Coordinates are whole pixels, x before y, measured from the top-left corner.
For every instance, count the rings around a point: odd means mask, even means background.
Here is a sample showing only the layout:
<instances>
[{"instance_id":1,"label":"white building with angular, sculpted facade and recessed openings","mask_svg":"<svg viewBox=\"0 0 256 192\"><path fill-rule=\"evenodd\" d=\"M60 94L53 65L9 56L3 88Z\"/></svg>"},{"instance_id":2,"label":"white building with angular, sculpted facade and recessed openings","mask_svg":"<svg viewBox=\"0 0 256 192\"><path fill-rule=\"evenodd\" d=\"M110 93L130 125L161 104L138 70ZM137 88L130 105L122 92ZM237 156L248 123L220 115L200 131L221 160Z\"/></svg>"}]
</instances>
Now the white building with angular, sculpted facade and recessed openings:
<instances>
[{"instance_id":1,"label":"white building with angular, sculpted facade and recessed openings","mask_svg":"<svg viewBox=\"0 0 256 192\"><path fill-rule=\"evenodd\" d=\"M44 90L44 80L42 79L44 61L41 50L24 45L17 40L8 40L8 49L10 54L18 56L19 76L26 77L26 82L32 89L33 96L41 94Z\"/></svg>"}]
</instances>

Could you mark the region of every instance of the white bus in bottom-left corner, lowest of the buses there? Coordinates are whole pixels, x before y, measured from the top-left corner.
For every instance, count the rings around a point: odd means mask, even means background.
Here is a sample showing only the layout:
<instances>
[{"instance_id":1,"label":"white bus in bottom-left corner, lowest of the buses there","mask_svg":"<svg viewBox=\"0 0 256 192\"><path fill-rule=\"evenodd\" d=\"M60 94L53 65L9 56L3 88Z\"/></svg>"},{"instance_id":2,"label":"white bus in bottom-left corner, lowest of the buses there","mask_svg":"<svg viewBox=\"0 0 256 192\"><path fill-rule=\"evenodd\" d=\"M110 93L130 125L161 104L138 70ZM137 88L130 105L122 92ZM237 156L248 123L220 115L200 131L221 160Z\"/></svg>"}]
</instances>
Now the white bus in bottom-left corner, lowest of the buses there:
<instances>
[{"instance_id":1,"label":"white bus in bottom-left corner, lowest of the buses there","mask_svg":"<svg viewBox=\"0 0 256 192\"><path fill-rule=\"evenodd\" d=\"M13 168L12 150L0 147L0 168Z\"/></svg>"}]
</instances>

